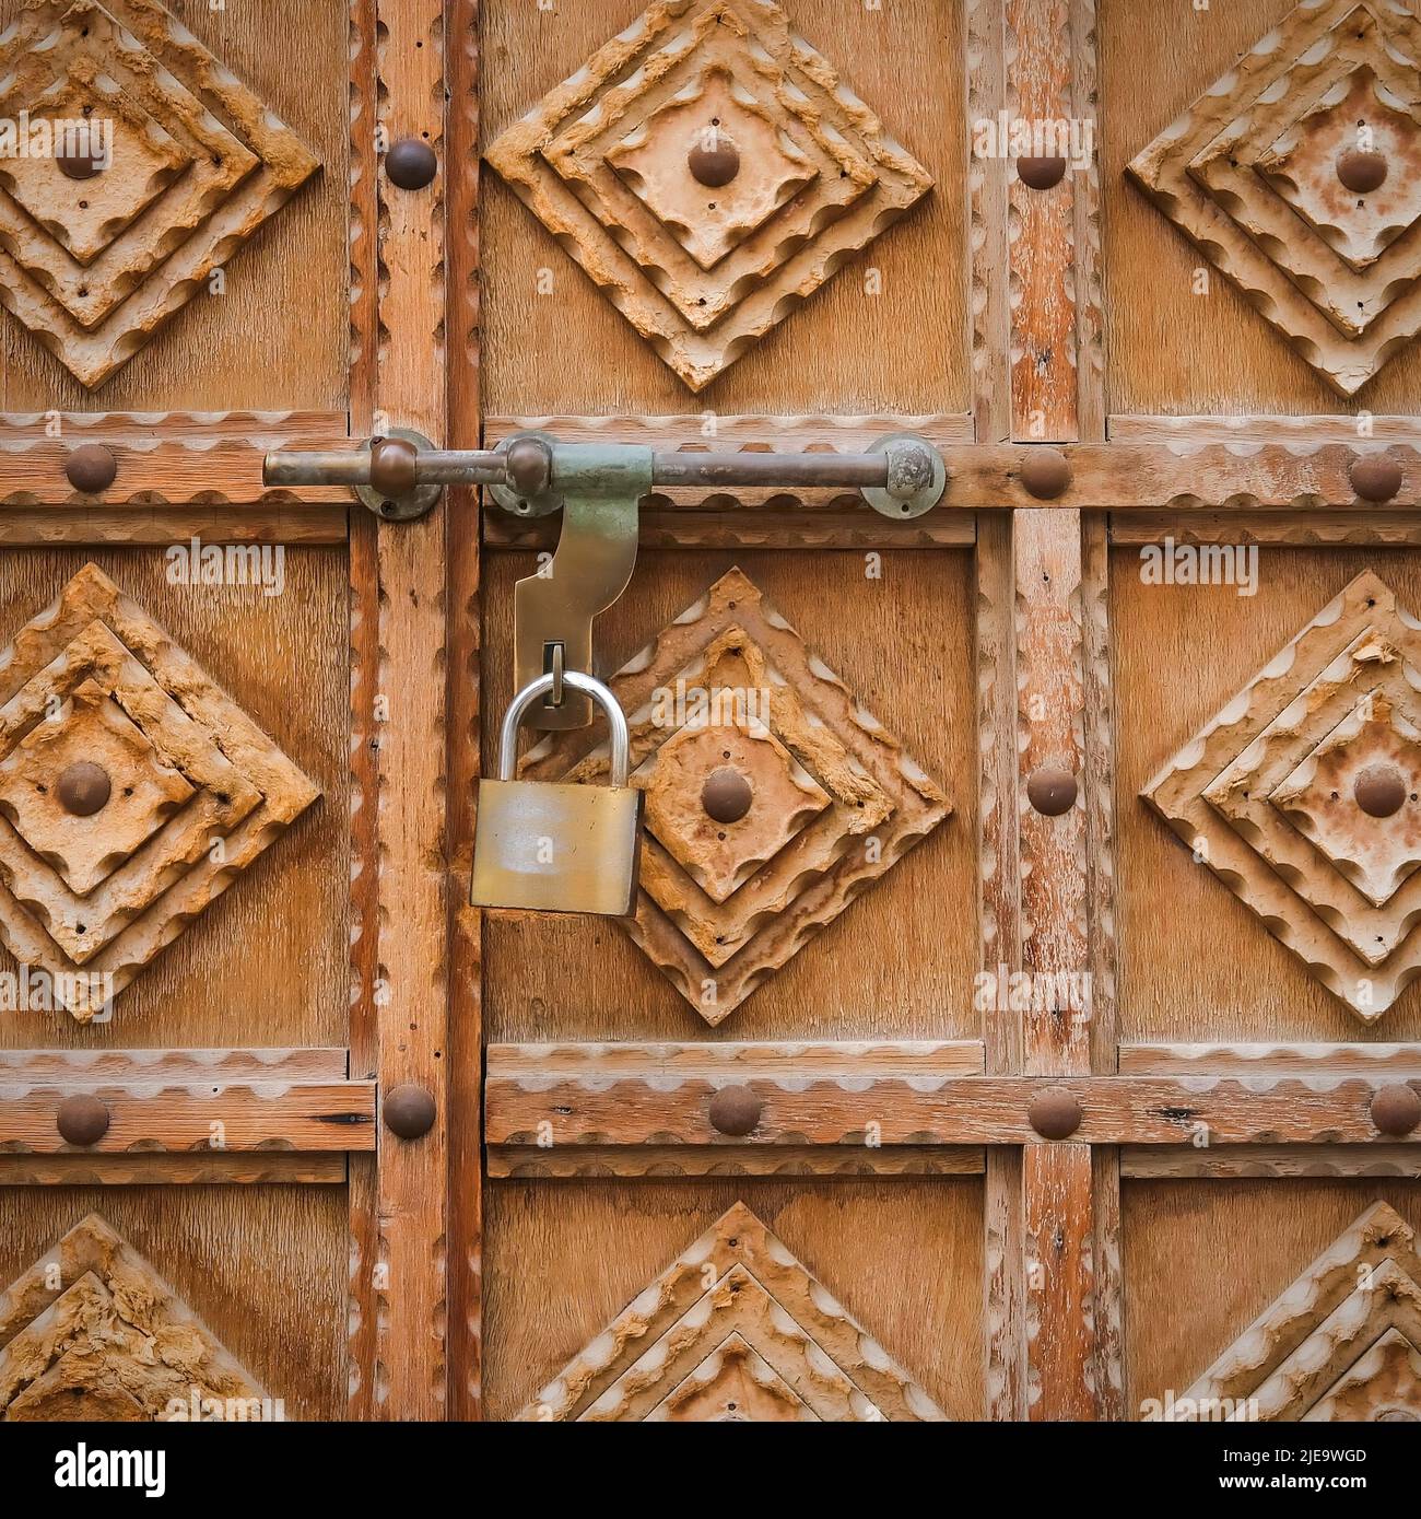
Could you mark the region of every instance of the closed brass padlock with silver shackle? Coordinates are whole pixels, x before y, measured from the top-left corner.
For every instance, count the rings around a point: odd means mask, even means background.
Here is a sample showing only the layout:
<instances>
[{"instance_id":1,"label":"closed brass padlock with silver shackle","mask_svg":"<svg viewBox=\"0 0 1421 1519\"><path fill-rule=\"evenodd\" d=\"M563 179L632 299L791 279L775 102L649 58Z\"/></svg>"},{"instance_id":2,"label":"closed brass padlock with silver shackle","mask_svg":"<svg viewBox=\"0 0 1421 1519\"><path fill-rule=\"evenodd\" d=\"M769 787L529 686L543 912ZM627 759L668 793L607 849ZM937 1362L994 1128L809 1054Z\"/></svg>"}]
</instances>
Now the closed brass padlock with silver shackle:
<instances>
[{"instance_id":1,"label":"closed brass padlock with silver shackle","mask_svg":"<svg viewBox=\"0 0 1421 1519\"><path fill-rule=\"evenodd\" d=\"M513 779L519 725L557 679L545 674L525 685L504 715L498 779L478 782L469 901L474 907L625 917L636 907L642 793L627 785L632 735L601 681L577 670L560 674L563 685L589 696L607 714L612 784Z\"/></svg>"}]
</instances>

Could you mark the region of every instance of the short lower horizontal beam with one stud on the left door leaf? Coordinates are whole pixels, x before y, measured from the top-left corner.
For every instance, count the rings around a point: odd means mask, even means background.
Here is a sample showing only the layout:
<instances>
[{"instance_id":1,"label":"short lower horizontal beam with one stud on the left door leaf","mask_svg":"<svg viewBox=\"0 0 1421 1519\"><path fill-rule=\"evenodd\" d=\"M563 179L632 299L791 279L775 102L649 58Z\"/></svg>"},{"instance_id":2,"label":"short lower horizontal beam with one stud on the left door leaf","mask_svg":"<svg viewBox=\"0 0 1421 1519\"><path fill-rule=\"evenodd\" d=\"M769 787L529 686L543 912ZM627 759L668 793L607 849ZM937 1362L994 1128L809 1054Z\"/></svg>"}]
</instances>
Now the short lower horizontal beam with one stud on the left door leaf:
<instances>
[{"instance_id":1,"label":"short lower horizontal beam with one stud on the left door leaf","mask_svg":"<svg viewBox=\"0 0 1421 1519\"><path fill-rule=\"evenodd\" d=\"M346 1078L346 1051L0 1051L0 1150L9 1154L375 1148L375 1083ZM93 1144L59 1132L67 1098L97 1098Z\"/></svg>"}]
</instances>

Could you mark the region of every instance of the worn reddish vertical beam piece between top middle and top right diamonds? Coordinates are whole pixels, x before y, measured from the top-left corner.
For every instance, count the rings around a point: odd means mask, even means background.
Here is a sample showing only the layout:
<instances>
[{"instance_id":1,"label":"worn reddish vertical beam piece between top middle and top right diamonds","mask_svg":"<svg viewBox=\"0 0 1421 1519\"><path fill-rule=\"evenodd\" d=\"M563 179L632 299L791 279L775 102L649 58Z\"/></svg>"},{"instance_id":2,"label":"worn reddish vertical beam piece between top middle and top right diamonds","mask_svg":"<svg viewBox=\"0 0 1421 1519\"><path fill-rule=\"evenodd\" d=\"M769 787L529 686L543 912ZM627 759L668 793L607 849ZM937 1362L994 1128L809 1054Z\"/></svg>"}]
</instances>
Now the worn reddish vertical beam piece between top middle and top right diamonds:
<instances>
[{"instance_id":1,"label":"worn reddish vertical beam piece between top middle and top right diamonds","mask_svg":"<svg viewBox=\"0 0 1421 1519\"><path fill-rule=\"evenodd\" d=\"M1008 112L1034 131L1069 120L1070 0L1007 0L1007 35ZM1060 184L1046 190L1031 188L1016 172L1008 179L1011 434L1023 441L1079 437L1073 178L1067 167Z\"/></svg>"}]
</instances>

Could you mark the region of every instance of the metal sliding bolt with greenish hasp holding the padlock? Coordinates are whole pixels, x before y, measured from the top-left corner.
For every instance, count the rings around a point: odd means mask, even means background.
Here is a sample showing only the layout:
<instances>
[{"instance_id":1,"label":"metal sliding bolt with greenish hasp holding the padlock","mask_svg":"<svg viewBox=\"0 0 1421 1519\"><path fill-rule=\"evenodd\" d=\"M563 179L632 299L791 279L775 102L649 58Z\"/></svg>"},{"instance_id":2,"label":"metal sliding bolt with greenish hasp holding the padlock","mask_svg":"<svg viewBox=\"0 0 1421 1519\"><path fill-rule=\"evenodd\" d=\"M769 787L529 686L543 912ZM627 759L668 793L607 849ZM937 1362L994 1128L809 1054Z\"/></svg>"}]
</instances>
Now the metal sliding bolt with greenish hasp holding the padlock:
<instances>
[{"instance_id":1,"label":"metal sliding bolt with greenish hasp holding the padlock","mask_svg":"<svg viewBox=\"0 0 1421 1519\"><path fill-rule=\"evenodd\" d=\"M577 670L595 674L592 620L627 588L636 564L638 512L653 489L847 488L893 521L932 510L947 488L941 453L914 433L891 433L862 454L656 453L636 444L560 444L518 433L496 448L442 450L410 431L355 450L273 453L263 478L279 485L346 485L386 521L428 512L448 485L481 485L516 516L563 513L557 551L515 589L515 685ZM584 728L586 696L559 679L527 717L544 731Z\"/></svg>"}]
</instances>

